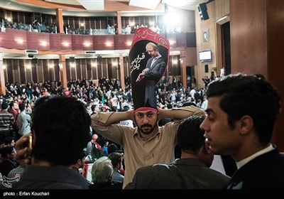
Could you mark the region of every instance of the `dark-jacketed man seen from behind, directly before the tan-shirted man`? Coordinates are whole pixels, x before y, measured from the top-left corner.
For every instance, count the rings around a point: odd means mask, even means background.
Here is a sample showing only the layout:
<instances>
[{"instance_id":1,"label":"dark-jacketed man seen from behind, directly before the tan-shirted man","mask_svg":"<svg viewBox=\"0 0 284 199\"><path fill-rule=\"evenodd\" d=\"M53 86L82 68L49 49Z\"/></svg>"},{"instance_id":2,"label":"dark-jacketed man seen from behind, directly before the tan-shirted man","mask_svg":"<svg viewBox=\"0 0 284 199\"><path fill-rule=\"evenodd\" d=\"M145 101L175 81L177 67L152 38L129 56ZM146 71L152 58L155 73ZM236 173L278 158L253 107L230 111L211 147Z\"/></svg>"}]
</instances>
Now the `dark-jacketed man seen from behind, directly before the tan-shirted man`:
<instances>
[{"instance_id":1,"label":"dark-jacketed man seen from behind, directly before the tan-shirted man","mask_svg":"<svg viewBox=\"0 0 284 199\"><path fill-rule=\"evenodd\" d=\"M138 168L126 189L222 189L229 177L209 168L214 154L204 143L200 129L204 117L192 116L178 127L180 159L170 164Z\"/></svg>"}]
</instances>

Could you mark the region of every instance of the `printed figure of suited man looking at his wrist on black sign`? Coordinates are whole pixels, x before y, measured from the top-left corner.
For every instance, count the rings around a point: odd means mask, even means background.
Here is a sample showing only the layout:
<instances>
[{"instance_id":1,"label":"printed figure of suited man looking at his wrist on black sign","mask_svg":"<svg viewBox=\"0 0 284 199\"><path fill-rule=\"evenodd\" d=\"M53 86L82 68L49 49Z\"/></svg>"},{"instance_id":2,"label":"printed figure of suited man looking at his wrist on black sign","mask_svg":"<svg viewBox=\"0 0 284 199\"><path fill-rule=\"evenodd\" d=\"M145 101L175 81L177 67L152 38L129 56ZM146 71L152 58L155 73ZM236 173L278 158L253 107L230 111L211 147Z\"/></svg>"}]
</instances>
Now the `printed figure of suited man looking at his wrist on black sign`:
<instances>
[{"instance_id":1,"label":"printed figure of suited man looking at his wrist on black sign","mask_svg":"<svg viewBox=\"0 0 284 199\"><path fill-rule=\"evenodd\" d=\"M162 55L159 53L158 46L155 45L155 43L147 43L146 52L151 55L151 58L148 59L146 68L138 75L136 82L140 82L143 79L146 80L145 104L156 108L157 99L155 94L155 85L163 76L166 65ZM146 105L146 107L148 106Z\"/></svg>"}]
</instances>

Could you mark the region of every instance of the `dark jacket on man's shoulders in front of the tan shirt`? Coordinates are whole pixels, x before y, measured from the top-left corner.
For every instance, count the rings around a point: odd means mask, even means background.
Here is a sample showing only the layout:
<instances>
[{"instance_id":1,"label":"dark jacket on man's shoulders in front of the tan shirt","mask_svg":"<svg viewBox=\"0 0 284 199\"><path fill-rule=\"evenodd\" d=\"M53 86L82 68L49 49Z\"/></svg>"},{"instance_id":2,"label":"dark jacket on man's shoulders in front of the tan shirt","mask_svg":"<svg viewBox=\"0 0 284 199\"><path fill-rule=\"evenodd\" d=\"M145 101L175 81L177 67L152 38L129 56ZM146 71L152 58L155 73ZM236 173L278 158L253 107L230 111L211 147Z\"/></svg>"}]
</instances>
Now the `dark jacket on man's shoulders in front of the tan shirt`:
<instances>
[{"instance_id":1,"label":"dark jacket on man's shoulders in front of the tan shirt","mask_svg":"<svg viewBox=\"0 0 284 199\"><path fill-rule=\"evenodd\" d=\"M126 189L222 189L229 177L196 158L138 168Z\"/></svg>"}]
</instances>

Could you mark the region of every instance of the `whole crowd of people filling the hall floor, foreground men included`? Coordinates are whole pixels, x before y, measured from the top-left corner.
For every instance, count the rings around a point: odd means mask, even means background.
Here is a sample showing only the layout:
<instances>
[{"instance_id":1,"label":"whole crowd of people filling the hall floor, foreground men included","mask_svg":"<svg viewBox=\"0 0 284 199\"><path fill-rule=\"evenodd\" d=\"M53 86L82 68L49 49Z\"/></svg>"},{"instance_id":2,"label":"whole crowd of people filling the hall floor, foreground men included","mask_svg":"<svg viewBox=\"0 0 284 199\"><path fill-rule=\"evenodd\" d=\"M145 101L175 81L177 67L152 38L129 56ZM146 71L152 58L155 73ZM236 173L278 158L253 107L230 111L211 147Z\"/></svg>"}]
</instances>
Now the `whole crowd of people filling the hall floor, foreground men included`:
<instances>
[{"instance_id":1,"label":"whole crowd of people filling the hall floor, foreground men included","mask_svg":"<svg viewBox=\"0 0 284 199\"><path fill-rule=\"evenodd\" d=\"M132 109L131 87L126 83L122 90L119 80L101 78L99 85L77 80L65 89L60 82L7 84L0 112L1 186L283 187L284 158L271 144L280 96L263 76L228 75L198 91L161 86L157 109ZM197 93L206 96L206 106L198 103ZM169 120L158 125L163 119ZM133 123L118 124L126 121ZM23 126L30 129L20 131ZM176 144L181 149L177 160ZM208 168L213 154L234 158L238 169L231 178ZM91 181L82 176L87 161L93 163Z\"/></svg>"}]
</instances>

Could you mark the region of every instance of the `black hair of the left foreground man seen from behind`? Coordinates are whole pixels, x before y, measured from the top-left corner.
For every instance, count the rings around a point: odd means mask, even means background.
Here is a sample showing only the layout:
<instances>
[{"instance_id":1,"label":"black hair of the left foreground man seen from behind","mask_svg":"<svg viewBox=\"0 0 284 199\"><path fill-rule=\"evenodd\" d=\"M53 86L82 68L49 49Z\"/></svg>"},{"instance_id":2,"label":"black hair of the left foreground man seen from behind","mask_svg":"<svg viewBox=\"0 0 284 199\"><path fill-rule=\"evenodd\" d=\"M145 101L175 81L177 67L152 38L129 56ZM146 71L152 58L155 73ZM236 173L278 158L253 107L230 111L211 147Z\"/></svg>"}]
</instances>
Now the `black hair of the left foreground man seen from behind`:
<instances>
[{"instance_id":1,"label":"black hair of the left foreground man seen from behind","mask_svg":"<svg viewBox=\"0 0 284 199\"><path fill-rule=\"evenodd\" d=\"M91 119L74 97L42 97L35 102L31 129L33 156L54 165L74 163L89 138Z\"/></svg>"}]
</instances>

